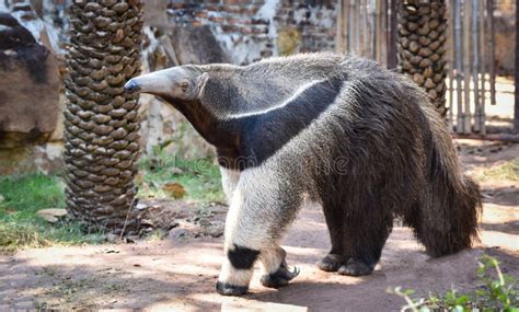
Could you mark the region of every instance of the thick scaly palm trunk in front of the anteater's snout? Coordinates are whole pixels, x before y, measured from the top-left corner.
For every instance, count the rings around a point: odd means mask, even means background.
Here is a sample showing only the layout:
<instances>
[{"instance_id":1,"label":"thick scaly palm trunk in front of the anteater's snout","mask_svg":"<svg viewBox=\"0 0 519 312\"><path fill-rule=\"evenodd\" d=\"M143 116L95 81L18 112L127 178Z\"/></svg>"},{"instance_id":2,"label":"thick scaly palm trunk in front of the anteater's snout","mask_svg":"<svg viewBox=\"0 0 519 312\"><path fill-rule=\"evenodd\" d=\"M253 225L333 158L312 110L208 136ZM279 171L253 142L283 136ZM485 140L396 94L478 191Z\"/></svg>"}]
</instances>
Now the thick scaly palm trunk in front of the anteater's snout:
<instances>
[{"instance_id":1,"label":"thick scaly palm trunk in front of the anteater's snout","mask_svg":"<svg viewBox=\"0 0 519 312\"><path fill-rule=\"evenodd\" d=\"M140 71L141 2L74 0L70 24L67 209L89 228L136 233L138 97L123 85Z\"/></svg>"}]
</instances>

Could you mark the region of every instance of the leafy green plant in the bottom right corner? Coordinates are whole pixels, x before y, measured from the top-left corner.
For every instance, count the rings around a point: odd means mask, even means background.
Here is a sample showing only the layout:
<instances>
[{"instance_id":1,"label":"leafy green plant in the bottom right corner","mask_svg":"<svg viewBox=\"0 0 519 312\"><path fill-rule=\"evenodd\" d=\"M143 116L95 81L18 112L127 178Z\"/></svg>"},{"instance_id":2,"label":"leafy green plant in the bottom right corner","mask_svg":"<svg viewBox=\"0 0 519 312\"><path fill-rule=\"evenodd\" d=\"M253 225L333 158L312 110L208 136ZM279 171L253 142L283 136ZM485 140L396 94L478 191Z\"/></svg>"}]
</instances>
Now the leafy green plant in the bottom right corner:
<instances>
[{"instance_id":1,"label":"leafy green plant in the bottom right corner","mask_svg":"<svg viewBox=\"0 0 519 312\"><path fill-rule=\"evenodd\" d=\"M471 293L458 292L453 287L445 294L429 294L428 298L413 298L415 291L402 287L389 288L388 292L402 297L406 301L407 304L402 307L402 311L519 312L517 280L501 273L496 258L484 255L478 262L476 276L482 285L480 289Z\"/></svg>"}]
</instances>

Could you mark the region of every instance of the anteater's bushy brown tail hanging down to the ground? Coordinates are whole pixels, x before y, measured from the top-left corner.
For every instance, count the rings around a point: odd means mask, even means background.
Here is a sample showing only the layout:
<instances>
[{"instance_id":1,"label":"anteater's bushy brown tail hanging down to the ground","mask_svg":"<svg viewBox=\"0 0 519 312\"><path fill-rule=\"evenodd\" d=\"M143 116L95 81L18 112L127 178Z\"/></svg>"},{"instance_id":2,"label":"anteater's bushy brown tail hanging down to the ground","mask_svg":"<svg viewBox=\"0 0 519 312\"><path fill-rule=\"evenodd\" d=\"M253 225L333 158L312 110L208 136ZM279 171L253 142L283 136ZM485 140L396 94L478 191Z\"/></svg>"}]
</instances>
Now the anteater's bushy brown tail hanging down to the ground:
<instances>
[{"instance_id":1,"label":"anteater's bushy brown tail hanging down to the ground","mask_svg":"<svg viewBox=\"0 0 519 312\"><path fill-rule=\"evenodd\" d=\"M480 187L464 175L451 136L429 105L422 106L428 125L425 138L423 196L405 218L431 256L442 256L470 247L477 239L482 209Z\"/></svg>"}]
</instances>

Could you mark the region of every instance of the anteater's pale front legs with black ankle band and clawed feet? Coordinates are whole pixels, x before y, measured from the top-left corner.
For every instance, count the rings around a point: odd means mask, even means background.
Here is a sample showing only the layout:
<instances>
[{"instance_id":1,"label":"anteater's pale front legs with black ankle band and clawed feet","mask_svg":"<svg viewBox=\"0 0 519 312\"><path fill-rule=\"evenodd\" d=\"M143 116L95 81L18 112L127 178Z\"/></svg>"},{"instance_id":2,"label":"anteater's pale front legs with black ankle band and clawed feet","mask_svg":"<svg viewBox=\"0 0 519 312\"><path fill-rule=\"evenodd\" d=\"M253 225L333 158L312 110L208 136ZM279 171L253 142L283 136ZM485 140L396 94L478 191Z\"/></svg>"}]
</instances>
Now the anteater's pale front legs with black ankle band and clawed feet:
<instances>
[{"instance_id":1,"label":"anteater's pale front legs with black ankle band and clawed feet","mask_svg":"<svg viewBox=\"0 0 519 312\"><path fill-rule=\"evenodd\" d=\"M241 180L233 193L226 220L226 259L217 282L217 291L240 296L249 290L256 261L265 275L262 284L280 287L297 276L288 270L286 253L279 241L300 206L298 196L265 181ZM261 183L262 187L255 185Z\"/></svg>"}]
</instances>

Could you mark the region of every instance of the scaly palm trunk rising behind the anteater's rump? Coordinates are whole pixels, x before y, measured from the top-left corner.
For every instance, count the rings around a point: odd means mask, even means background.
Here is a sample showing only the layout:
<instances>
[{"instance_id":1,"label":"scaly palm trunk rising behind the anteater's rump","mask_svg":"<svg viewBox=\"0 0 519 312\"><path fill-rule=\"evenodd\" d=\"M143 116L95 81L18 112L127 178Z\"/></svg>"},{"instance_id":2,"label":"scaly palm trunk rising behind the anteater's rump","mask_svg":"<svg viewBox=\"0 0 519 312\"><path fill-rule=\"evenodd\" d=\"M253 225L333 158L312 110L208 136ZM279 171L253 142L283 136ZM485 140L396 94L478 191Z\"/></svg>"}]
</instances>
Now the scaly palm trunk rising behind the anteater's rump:
<instances>
[{"instance_id":1,"label":"scaly palm trunk rising behind the anteater's rump","mask_svg":"<svg viewBox=\"0 0 519 312\"><path fill-rule=\"evenodd\" d=\"M446 3L442 0L399 3L400 70L423 86L446 116Z\"/></svg>"}]
</instances>

